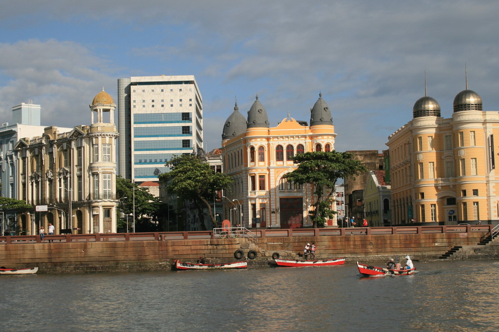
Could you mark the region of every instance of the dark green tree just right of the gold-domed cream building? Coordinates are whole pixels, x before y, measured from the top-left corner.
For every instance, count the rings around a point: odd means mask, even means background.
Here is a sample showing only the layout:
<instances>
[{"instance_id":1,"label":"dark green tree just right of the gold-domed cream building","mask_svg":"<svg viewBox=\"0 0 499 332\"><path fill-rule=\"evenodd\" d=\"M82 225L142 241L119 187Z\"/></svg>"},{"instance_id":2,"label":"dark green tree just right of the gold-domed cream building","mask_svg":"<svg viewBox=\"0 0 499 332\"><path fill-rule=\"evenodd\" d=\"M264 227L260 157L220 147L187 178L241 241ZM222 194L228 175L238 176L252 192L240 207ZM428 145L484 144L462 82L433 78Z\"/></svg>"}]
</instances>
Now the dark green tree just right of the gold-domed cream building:
<instances>
[{"instance_id":1,"label":"dark green tree just right of the gold-domed cream building","mask_svg":"<svg viewBox=\"0 0 499 332\"><path fill-rule=\"evenodd\" d=\"M120 199L118 206L118 209L125 214L133 213L135 201L136 232L160 230L160 221L165 210L165 204L158 197L151 194L147 188L141 187L121 176L116 176L116 193L118 197L126 197ZM117 228L126 228L126 218L123 220L117 218L117 220L119 220ZM131 221L133 222L133 220Z\"/></svg>"}]
</instances>

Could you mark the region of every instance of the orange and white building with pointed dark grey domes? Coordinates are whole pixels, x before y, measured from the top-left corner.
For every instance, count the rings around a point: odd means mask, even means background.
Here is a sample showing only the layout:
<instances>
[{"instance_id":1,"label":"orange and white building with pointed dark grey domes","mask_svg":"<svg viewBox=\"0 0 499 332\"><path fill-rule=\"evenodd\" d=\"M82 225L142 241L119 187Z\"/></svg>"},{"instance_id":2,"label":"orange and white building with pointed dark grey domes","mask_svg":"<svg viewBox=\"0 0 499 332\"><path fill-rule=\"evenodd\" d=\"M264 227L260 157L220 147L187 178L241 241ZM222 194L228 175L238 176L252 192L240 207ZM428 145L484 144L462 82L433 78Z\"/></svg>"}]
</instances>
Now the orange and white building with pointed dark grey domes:
<instances>
[{"instance_id":1,"label":"orange and white building with pointed dark grey domes","mask_svg":"<svg viewBox=\"0 0 499 332\"><path fill-rule=\"evenodd\" d=\"M322 95L319 94L310 111L310 126L288 114L276 127L270 127L258 96L248 119L239 112L236 103L222 134L223 168L234 179L231 190L223 197L224 215L233 225L280 228L312 225L308 217L314 203L310 186L282 179L296 169L291 160L295 154L334 150L333 119ZM336 220L328 225L336 226Z\"/></svg>"}]
</instances>

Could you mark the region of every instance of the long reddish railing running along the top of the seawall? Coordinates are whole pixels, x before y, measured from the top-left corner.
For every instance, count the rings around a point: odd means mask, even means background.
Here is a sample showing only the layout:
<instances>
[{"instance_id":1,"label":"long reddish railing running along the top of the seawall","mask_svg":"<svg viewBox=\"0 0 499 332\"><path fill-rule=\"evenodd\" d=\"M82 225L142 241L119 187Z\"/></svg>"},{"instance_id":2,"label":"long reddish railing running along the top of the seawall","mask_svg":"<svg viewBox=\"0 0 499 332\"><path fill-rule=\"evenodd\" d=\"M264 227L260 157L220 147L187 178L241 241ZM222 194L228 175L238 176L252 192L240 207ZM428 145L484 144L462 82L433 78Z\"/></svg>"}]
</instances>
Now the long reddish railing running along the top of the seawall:
<instances>
[{"instance_id":1,"label":"long reddish railing running along the top of the seawall","mask_svg":"<svg viewBox=\"0 0 499 332\"><path fill-rule=\"evenodd\" d=\"M343 236L343 235L386 235L427 233L490 233L493 225L457 226L401 226L401 227L356 227L356 228L293 228L253 229L259 238L292 236ZM213 231L151 232L151 233L100 233L45 235L43 243L53 242L100 242L100 241L166 241L197 240L213 238ZM42 243L39 235L0 236L0 244Z\"/></svg>"}]
</instances>

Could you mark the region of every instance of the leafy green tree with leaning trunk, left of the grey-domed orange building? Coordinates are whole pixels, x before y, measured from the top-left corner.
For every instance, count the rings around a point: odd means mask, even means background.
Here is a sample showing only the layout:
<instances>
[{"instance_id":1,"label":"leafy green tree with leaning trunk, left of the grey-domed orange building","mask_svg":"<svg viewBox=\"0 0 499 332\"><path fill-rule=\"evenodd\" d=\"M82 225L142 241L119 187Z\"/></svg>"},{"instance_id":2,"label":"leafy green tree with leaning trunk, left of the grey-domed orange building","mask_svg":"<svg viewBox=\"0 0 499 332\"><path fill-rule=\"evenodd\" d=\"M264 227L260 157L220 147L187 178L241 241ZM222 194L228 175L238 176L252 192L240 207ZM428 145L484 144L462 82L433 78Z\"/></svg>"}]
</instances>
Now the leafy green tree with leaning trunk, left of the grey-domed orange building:
<instances>
[{"instance_id":1,"label":"leafy green tree with leaning trunk, left of the grey-domed orange building","mask_svg":"<svg viewBox=\"0 0 499 332\"><path fill-rule=\"evenodd\" d=\"M227 189L233 179L227 174L215 172L210 165L193 155L177 156L166 166L171 170L161 173L159 179L164 181L167 191L175 192L180 199L191 200L200 220L204 220L203 209L207 208L213 224L218 226L210 201L216 191ZM202 227L206 230L204 222Z\"/></svg>"}]
</instances>

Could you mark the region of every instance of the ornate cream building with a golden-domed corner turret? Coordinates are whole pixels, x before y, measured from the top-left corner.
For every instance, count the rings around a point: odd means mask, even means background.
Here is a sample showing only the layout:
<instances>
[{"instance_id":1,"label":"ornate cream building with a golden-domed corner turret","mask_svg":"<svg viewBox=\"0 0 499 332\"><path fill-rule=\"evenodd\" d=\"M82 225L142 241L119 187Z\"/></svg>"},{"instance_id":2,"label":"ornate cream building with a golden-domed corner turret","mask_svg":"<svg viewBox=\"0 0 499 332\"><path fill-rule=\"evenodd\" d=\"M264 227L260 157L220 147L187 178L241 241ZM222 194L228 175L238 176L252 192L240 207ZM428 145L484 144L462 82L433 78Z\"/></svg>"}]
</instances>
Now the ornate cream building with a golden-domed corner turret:
<instances>
[{"instance_id":1,"label":"ornate cream building with a golden-domed corner turret","mask_svg":"<svg viewBox=\"0 0 499 332\"><path fill-rule=\"evenodd\" d=\"M18 226L36 234L48 223L55 233L116 232L116 105L104 89L90 106L90 126L17 142L17 197L36 206L18 215Z\"/></svg>"}]
</instances>

